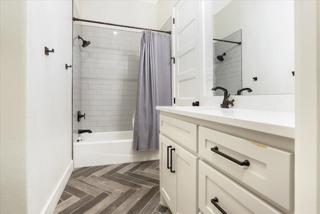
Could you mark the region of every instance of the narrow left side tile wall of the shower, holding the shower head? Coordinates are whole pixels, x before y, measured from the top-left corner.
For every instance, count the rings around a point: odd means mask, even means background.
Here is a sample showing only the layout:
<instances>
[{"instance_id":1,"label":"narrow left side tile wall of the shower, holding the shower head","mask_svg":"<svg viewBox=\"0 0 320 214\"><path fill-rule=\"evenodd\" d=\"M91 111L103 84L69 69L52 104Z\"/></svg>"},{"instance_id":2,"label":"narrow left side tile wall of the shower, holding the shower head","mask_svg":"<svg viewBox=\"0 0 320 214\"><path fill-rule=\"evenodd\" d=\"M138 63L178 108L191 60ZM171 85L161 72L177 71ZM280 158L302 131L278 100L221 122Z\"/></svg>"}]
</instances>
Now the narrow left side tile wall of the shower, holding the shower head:
<instances>
[{"instance_id":1,"label":"narrow left side tile wall of the shower, holding the shower head","mask_svg":"<svg viewBox=\"0 0 320 214\"><path fill-rule=\"evenodd\" d=\"M73 3L73 16L78 18L78 13L76 11L75 5ZM73 22L73 32L72 32L72 142L75 142L78 138L78 129L82 129L82 122L77 121L77 112L82 111L81 100L81 79L82 79L82 56L81 56L81 40L78 40L78 35L81 35L82 26L75 24ZM70 69L68 68L68 72Z\"/></svg>"}]
</instances>

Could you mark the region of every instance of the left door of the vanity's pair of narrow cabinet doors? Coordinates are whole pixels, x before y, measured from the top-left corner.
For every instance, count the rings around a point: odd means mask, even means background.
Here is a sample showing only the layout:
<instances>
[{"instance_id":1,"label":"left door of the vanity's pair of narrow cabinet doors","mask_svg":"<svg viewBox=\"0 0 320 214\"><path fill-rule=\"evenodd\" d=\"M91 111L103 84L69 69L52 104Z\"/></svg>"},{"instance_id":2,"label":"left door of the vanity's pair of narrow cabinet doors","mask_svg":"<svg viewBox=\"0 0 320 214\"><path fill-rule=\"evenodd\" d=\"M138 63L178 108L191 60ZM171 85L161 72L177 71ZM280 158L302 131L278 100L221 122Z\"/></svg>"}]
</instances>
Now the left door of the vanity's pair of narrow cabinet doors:
<instances>
[{"instance_id":1,"label":"left door of the vanity's pair of narrow cabinet doors","mask_svg":"<svg viewBox=\"0 0 320 214\"><path fill-rule=\"evenodd\" d=\"M174 147L173 141L159 134L160 147L160 193L166 204L174 210L175 198L175 173L170 172L170 148ZM172 163L173 164L173 163Z\"/></svg>"}]
</instances>

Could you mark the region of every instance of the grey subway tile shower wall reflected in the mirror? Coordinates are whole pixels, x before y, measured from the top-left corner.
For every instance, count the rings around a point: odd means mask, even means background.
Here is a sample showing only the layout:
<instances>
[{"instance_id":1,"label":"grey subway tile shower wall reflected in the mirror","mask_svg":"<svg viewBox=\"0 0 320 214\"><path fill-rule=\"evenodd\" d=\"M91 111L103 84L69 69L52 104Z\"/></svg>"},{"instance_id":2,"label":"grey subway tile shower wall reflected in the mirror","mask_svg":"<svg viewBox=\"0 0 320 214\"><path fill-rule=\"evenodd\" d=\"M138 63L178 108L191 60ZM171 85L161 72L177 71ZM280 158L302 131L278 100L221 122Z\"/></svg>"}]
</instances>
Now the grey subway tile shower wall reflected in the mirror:
<instances>
[{"instance_id":1,"label":"grey subway tile shower wall reflected in the mirror","mask_svg":"<svg viewBox=\"0 0 320 214\"><path fill-rule=\"evenodd\" d=\"M241 30L223 38L223 40L241 42ZM218 61L217 56L222 55L223 61ZM241 45L226 42L213 44L213 86L220 86L228 90L230 95L235 95L242 88L242 64ZM223 96L223 91L214 92L217 96Z\"/></svg>"}]
</instances>

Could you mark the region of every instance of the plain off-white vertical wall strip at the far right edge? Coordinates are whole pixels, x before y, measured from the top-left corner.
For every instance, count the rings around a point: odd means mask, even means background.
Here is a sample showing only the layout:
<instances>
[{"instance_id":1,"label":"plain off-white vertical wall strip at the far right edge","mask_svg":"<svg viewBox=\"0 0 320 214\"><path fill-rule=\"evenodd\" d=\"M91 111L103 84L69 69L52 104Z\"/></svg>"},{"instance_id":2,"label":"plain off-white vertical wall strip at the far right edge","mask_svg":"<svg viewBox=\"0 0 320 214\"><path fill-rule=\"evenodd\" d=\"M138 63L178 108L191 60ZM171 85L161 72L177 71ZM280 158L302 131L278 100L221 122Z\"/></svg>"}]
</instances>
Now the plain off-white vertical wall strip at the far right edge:
<instances>
[{"instance_id":1,"label":"plain off-white vertical wall strip at the far right edge","mask_svg":"<svg viewBox=\"0 0 320 214\"><path fill-rule=\"evenodd\" d=\"M294 212L320 213L320 2L296 1L294 11Z\"/></svg>"}]
</instances>

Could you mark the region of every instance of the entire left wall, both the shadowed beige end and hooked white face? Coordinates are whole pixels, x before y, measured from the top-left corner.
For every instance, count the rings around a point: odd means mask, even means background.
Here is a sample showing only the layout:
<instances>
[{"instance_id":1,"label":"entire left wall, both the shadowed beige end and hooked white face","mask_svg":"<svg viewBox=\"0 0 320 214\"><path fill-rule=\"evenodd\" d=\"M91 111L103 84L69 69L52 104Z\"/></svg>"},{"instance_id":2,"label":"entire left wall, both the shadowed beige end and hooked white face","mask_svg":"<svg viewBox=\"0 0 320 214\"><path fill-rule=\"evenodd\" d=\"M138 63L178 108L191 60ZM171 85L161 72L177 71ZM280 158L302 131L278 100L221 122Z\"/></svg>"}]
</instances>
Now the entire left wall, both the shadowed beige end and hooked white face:
<instances>
[{"instance_id":1,"label":"entire left wall, both the shadowed beige end and hooked white face","mask_svg":"<svg viewBox=\"0 0 320 214\"><path fill-rule=\"evenodd\" d=\"M72 169L71 11L71 1L1 2L1 213L52 212Z\"/></svg>"}]
</instances>

